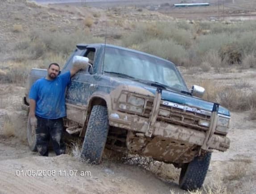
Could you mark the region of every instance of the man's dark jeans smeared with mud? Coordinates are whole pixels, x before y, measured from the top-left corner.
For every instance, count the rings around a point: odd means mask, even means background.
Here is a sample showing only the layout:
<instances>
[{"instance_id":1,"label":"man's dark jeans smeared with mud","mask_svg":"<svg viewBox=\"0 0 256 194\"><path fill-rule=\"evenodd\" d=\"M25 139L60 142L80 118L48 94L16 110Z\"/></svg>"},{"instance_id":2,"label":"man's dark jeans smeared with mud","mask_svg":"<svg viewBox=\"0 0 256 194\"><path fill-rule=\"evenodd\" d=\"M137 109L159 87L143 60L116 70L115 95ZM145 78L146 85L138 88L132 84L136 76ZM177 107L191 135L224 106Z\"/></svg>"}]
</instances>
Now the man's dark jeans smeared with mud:
<instances>
[{"instance_id":1,"label":"man's dark jeans smeared with mud","mask_svg":"<svg viewBox=\"0 0 256 194\"><path fill-rule=\"evenodd\" d=\"M48 156L48 146L50 139L53 143L56 155L65 153L65 144L62 141L63 120L44 119L37 116L37 151L41 156Z\"/></svg>"}]
</instances>

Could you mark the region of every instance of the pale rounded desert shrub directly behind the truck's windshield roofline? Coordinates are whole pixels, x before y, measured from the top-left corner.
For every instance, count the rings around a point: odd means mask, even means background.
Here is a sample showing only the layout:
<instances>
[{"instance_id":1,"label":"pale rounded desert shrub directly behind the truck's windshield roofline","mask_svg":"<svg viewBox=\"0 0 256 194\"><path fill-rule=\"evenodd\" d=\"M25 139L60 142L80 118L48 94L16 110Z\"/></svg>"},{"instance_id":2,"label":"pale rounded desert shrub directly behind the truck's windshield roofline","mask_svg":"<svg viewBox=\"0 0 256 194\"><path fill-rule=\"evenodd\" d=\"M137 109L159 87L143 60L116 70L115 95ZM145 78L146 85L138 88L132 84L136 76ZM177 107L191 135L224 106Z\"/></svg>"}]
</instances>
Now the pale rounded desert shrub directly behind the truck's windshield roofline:
<instances>
[{"instance_id":1,"label":"pale rounded desert shrub directly behind the truck's windshield roofline","mask_svg":"<svg viewBox=\"0 0 256 194\"><path fill-rule=\"evenodd\" d=\"M176 65L184 65L188 61L185 48L172 40L153 39L140 44L138 50L165 58Z\"/></svg>"}]
</instances>

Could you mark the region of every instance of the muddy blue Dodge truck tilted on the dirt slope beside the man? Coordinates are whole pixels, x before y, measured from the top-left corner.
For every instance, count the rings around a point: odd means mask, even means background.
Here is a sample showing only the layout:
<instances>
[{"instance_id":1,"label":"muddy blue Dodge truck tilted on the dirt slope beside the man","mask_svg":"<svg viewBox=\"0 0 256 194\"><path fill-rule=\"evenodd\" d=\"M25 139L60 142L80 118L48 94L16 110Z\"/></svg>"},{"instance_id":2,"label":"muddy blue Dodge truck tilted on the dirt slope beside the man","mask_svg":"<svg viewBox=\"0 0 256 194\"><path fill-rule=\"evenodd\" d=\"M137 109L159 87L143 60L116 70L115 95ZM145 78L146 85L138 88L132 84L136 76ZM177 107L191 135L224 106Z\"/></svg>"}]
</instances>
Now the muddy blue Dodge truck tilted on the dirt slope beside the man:
<instances>
[{"instance_id":1,"label":"muddy blue Dodge truck tilted on the dirt slope beside the man","mask_svg":"<svg viewBox=\"0 0 256 194\"><path fill-rule=\"evenodd\" d=\"M201 99L204 88L188 89L176 66L165 59L114 45L79 44L74 58L90 59L66 89L66 131L84 138L81 157L100 163L103 150L112 149L181 168L179 186L200 188L212 151L226 151L230 112ZM28 91L46 70L32 69L23 108L28 110ZM28 141L36 139L28 125Z\"/></svg>"}]
</instances>

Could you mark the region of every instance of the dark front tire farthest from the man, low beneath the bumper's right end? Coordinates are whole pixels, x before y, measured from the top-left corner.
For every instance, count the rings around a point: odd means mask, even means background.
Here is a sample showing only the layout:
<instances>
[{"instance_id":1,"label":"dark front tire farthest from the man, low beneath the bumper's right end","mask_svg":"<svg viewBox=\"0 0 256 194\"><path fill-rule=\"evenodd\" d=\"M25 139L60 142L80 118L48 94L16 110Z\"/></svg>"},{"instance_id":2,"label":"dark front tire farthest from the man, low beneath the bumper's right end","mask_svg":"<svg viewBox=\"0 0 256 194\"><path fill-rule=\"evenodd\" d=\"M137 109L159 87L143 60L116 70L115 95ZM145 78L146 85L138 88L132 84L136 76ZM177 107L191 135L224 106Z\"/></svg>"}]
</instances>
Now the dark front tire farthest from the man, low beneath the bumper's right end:
<instances>
[{"instance_id":1,"label":"dark front tire farthest from the man, low beneath the bumper's right end","mask_svg":"<svg viewBox=\"0 0 256 194\"><path fill-rule=\"evenodd\" d=\"M204 156L195 157L193 161L184 164L180 173L180 188L190 191L199 189L206 177L210 161L211 152L207 152Z\"/></svg>"}]
</instances>

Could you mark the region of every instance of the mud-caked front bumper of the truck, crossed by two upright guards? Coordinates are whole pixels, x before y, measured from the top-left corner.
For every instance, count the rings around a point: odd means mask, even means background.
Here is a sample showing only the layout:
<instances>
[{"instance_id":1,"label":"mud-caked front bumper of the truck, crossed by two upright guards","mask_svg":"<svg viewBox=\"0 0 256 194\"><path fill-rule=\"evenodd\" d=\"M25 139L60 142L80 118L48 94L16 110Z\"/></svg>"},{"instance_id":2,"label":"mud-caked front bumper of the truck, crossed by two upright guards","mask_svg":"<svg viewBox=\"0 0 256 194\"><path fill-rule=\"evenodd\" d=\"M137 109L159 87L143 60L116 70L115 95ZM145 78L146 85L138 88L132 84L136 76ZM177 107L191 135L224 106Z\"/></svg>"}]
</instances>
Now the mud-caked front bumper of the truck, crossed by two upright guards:
<instances>
[{"instance_id":1,"label":"mud-caked front bumper of the truck, crossed by two upright guards","mask_svg":"<svg viewBox=\"0 0 256 194\"><path fill-rule=\"evenodd\" d=\"M149 119L120 111L111 111L109 112L109 124L114 127L145 134L149 126ZM153 128L152 138L157 136L197 146L203 146L207 138L205 131L168 124L163 121L156 121ZM209 149L226 151L229 148L230 140L226 136L213 134L208 145Z\"/></svg>"}]
</instances>

